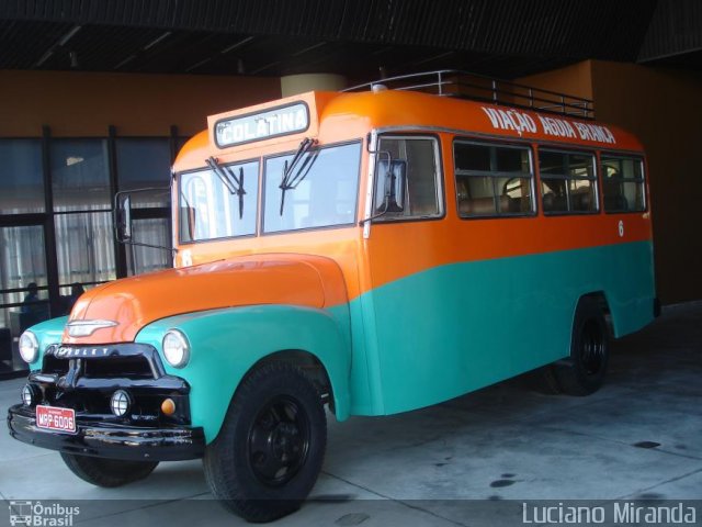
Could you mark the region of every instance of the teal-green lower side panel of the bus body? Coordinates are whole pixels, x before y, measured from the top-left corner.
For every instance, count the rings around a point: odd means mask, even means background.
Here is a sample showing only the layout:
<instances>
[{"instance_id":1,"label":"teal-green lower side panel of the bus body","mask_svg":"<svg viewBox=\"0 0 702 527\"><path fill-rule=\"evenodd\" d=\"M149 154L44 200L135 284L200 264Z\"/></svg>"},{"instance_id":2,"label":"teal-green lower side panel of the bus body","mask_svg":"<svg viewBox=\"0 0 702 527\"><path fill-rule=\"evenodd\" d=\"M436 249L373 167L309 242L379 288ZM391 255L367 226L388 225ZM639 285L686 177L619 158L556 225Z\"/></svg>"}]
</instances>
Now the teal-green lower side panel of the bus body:
<instances>
[{"instance_id":1,"label":"teal-green lower side panel of the bus body","mask_svg":"<svg viewBox=\"0 0 702 527\"><path fill-rule=\"evenodd\" d=\"M593 292L616 336L648 324L650 243L455 264L380 287L350 309L366 319L364 343L354 334L351 412L427 406L566 357L578 300Z\"/></svg>"}]
</instances>

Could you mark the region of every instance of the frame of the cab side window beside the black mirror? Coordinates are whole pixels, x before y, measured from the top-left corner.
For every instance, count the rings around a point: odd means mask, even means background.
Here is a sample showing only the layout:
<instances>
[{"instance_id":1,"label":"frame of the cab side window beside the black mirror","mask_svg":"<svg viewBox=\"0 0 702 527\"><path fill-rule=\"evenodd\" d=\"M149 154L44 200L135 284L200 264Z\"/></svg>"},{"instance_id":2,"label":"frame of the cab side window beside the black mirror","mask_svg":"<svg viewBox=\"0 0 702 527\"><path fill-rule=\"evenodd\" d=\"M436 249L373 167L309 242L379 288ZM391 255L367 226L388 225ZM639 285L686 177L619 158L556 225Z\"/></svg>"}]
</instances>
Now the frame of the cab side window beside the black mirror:
<instances>
[{"instance_id":1,"label":"frame of the cab side window beside the black mirror","mask_svg":"<svg viewBox=\"0 0 702 527\"><path fill-rule=\"evenodd\" d=\"M381 142L383 139L410 139L410 141L420 141L420 139L429 139L432 142L433 150L434 150L434 178L437 183L437 203L439 204L439 214L433 215L410 215L410 216L387 216L382 214L377 217L372 217L371 223L373 224L384 224L384 223L403 223L403 222L434 222L440 221L446 217L446 192L444 184L444 173L443 170L443 158L442 158L442 141L441 136L438 134L422 134L422 133L403 133L403 132L389 132L389 133L380 133L377 134L377 150L372 152L371 155L375 156L375 162L373 164L374 173L371 181L373 186L373 192L371 195L371 208L375 208L375 198L376 198L376 189L377 189L377 160L381 155Z\"/></svg>"}]
</instances>

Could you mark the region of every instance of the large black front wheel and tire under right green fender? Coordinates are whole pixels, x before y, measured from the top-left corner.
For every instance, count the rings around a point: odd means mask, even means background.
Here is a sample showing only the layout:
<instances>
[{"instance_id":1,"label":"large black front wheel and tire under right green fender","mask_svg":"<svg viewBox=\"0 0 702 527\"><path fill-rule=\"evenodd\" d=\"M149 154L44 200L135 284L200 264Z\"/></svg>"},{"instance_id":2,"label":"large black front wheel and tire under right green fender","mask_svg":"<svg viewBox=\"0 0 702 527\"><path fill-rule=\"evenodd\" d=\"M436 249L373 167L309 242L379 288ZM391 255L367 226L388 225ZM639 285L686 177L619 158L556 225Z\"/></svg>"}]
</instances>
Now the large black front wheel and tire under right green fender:
<instances>
[{"instance_id":1,"label":"large black front wheel and tire under right green fender","mask_svg":"<svg viewBox=\"0 0 702 527\"><path fill-rule=\"evenodd\" d=\"M249 522L297 511L321 470L327 417L298 368L271 362L239 384L219 435L205 449L205 479L225 508Z\"/></svg>"}]
</instances>

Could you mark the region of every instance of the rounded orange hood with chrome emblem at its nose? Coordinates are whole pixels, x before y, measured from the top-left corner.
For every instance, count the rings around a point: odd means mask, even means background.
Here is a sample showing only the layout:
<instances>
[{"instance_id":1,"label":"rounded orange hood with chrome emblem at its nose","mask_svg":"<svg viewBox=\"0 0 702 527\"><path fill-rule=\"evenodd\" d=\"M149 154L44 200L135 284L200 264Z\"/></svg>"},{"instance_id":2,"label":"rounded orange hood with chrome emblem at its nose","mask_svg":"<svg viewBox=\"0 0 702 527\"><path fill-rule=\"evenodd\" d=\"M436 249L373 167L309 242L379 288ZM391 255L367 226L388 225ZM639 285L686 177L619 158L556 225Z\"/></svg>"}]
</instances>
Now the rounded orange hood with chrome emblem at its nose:
<instances>
[{"instance_id":1,"label":"rounded orange hood with chrome emblem at its nose","mask_svg":"<svg viewBox=\"0 0 702 527\"><path fill-rule=\"evenodd\" d=\"M145 325L199 311L259 304L329 307L347 302L339 266L295 254L257 255L168 269L94 288L76 303L64 344L133 341ZM83 322L84 324L80 324ZM90 335L78 336L83 330Z\"/></svg>"}]
</instances>

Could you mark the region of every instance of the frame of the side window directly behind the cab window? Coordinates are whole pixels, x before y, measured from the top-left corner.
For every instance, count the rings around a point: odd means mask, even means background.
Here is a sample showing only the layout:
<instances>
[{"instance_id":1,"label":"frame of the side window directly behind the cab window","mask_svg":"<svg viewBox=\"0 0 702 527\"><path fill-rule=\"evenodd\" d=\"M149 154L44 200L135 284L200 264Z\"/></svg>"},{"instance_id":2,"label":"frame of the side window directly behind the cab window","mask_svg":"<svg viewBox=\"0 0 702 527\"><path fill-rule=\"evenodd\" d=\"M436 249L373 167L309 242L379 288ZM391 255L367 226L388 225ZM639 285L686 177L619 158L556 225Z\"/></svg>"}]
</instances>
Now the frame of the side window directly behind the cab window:
<instances>
[{"instance_id":1,"label":"frame of the side window directly behind the cab window","mask_svg":"<svg viewBox=\"0 0 702 527\"><path fill-rule=\"evenodd\" d=\"M458 173L458 169L456 167L456 144L469 144L476 146L488 146L488 147L497 147L497 148L512 148L516 150L526 150L529 154L529 168L530 168L530 190L531 190L531 211L529 212L506 212L500 213L497 212L497 202L495 201L498 197L495 187L495 180L499 178L506 177L514 177L514 172L505 172L501 170L461 170L462 172L472 172L472 173ZM486 139L479 141L471 137L464 136L455 136L453 138L451 145L451 153L453 154L453 181L455 186L455 205L456 205L456 216L460 220L503 220L503 218L517 218L517 217L535 217L539 214L539 200L535 198L535 186L536 186L536 171L534 166L534 148L533 144L524 143L524 144L514 144L514 143L502 143L497 139ZM520 172L524 173L524 172ZM472 215L462 215L461 214L461 200L458 200L458 176L466 178L480 178L480 177L489 177L492 179L492 201L495 202L495 214L472 214ZM501 195L501 194L499 194Z\"/></svg>"}]
</instances>

